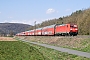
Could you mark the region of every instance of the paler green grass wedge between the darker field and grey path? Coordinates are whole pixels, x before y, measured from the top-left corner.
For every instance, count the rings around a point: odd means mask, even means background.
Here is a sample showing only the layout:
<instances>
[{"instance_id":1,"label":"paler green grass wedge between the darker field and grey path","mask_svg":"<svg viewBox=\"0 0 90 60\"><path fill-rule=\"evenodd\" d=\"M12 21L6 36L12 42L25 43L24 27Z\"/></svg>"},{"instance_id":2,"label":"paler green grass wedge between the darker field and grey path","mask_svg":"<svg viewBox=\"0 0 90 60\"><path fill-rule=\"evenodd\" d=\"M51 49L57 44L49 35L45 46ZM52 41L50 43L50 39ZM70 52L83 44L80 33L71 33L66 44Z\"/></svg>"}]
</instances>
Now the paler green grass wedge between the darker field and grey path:
<instances>
[{"instance_id":1,"label":"paler green grass wedge between the darker field and grey path","mask_svg":"<svg viewBox=\"0 0 90 60\"><path fill-rule=\"evenodd\" d=\"M48 60L90 60L90 58L85 58L77 55L56 51L56 50L45 48L35 44L29 44L29 45L38 49Z\"/></svg>"}]
</instances>

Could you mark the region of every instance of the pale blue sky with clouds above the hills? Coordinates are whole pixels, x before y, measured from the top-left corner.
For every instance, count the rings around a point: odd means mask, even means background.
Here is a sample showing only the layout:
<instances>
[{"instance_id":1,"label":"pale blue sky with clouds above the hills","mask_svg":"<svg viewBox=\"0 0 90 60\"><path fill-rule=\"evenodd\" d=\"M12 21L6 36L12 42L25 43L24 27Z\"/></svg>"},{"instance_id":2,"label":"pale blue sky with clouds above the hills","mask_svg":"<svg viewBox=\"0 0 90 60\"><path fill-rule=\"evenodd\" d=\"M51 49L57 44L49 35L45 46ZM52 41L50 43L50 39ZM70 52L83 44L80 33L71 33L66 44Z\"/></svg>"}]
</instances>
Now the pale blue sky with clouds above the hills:
<instances>
[{"instance_id":1,"label":"pale blue sky with clouds above the hills","mask_svg":"<svg viewBox=\"0 0 90 60\"><path fill-rule=\"evenodd\" d=\"M90 8L90 0L0 0L0 23L34 25Z\"/></svg>"}]
</instances>

